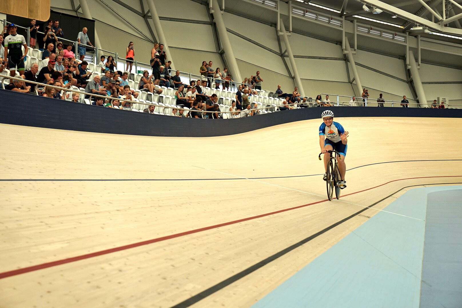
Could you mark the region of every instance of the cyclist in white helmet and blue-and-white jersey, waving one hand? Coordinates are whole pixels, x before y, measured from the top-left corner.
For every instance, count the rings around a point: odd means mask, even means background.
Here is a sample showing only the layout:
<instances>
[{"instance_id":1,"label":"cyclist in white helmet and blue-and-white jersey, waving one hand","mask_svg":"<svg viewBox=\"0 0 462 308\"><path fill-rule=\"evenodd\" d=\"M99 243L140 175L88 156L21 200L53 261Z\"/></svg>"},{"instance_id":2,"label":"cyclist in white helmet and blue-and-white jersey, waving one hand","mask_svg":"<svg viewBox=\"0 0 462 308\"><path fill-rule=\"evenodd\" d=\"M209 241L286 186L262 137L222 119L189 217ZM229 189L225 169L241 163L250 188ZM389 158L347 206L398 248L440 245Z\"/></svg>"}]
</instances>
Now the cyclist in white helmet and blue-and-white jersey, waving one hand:
<instances>
[{"instance_id":1,"label":"cyclist in white helmet and blue-and-white jersey, waving one hand","mask_svg":"<svg viewBox=\"0 0 462 308\"><path fill-rule=\"evenodd\" d=\"M346 187L345 181L345 156L348 132L343 129L340 123L334 122L334 113L330 110L325 110L321 114L324 123L319 126L319 145L321 146L321 153L324 153L324 181L327 179L327 166L330 159L330 154L327 151L335 150L340 154L340 159L337 160L340 172L340 182L338 185L341 189Z\"/></svg>"}]
</instances>

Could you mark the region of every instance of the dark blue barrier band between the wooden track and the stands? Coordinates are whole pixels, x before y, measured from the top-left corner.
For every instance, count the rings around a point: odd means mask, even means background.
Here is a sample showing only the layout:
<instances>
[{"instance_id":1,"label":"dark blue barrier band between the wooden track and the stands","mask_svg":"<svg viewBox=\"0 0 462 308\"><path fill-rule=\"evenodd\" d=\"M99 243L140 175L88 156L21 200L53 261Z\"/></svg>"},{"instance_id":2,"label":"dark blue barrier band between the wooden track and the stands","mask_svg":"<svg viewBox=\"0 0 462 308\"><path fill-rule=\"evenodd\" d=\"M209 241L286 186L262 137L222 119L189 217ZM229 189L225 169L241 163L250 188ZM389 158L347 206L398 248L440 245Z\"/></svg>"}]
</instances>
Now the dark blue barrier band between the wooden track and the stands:
<instances>
[{"instance_id":1,"label":"dark blue barrier band between the wooden track and the stands","mask_svg":"<svg viewBox=\"0 0 462 308\"><path fill-rule=\"evenodd\" d=\"M329 107L337 117L462 118L462 109ZM97 133L210 137L234 135L279 124L319 119L321 107L255 117L209 120L177 118L71 103L0 89L0 123Z\"/></svg>"}]
</instances>

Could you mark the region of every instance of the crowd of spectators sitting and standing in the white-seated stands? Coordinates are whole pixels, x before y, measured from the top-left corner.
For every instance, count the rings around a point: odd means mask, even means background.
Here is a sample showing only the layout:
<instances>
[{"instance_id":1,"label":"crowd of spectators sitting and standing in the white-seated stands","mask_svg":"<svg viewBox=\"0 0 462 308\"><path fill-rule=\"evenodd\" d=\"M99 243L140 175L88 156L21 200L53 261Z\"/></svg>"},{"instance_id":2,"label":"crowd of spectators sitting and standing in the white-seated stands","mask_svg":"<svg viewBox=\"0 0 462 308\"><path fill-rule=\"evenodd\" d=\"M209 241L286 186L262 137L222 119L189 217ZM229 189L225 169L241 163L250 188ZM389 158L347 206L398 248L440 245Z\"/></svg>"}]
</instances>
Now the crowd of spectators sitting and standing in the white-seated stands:
<instances>
[{"instance_id":1,"label":"crowd of spectators sitting and standing in the white-seated stands","mask_svg":"<svg viewBox=\"0 0 462 308\"><path fill-rule=\"evenodd\" d=\"M6 86L6 89L19 91L19 92L35 92L36 85L33 83L27 83L27 81L34 81L44 83L47 85L55 85L61 88L68 89L71 86L84 88L88 99L91 99L94 105L102 107L116 107L118 109L130 109L131 104L125 101L118 101L117 99L132 100L139 96L139 91L130 89L128 84L128 74L132 71L134 63L134 43L130 41L126 48L126 68L125 72L117 71L116 62L114 57L109 55L106 59L104 55L101 56L98 67L100 71L98 73L104 74L104 76L94 76L91 79L92 71L87 70L88 62L84 60L86 54L86 47L79 45L78 55L79 59L76 59L76 54L73 53L73 44L63 44L60 39L64 37L63 30L59 27L59 21L49 20L44 25L43 31L44 36L42 41L37 42L37 31L40 29L36 25L36 20L32 19L28 27L30 32L29 46L32 48L38 47L43 50L42 61L40 65L31 65L28 71L24 71L24 57L27 56L27 44L24 36L17 33L17 27L14 24L10 24L7 27L9 34L4 48L0 45L0 72L4 68L10 69L10 75L15 76L16 68L18 69L19 75L24 79L23 81L11 80L11 83ZM87 28L83 28L77 36L79 44L84 44L93 47L91 41L87 35ZM13 39L12 39L13 38ZM5 40L4 35L0 35L0 44ZM21 46L24 47L24 53L21 50ZM43 47L43 48L42 48ZM66 47L66 48L64 48ZM4 61L5 59L5 61ZM263 78L260 75L260 71L256 71L255 75L251 75L249 78L244 78L241 83L237 83L232 79L231 73L227 67L223 68L223 71L219 67L213 66L213 61L202 61L202 65L199 68L199 74L201 79L191 81L190 84L184 84L180 77L180 71L173 73L170 69L171 61L168 58L167 53L164 51L164 44L154 44L151 50L150 65L152 71L143 71L142 77L138 84L138 90L148 91L151 93L161 94L163 89L159 87L173 88L175 92L176 105L179 107L188 107L192 110L190 116L192 118L219 118L219 97L210 91L211 89L220 89L230 91L233 89L233 85L237 86L234 100L231 102L229 108L230 118L236 117L248 117L259 114L257 110L257 104L252 102L250 97L257 95L258 91L261 90ZM159 87L156 87L159 86ZM57 91L51 87L37 87L39 95L46 97L53 97L58 99L68 99L69 95L61 95L60 91ZM64 91L62 93L65 93ZM298 87L294 87L292 93L285 93L281 86L278 85L276 89L275 97L284 99L282 102L283 106L279 107L279 110L291 110L294 104L298 104L299 107L308 107L308 97L302 96L298 92ZM93 95L107 96L106 99L98 98ZM76 93L72 94L72 101L79 101L79 96ZM361 94L362 102L356 100L356 97L352 97L349 102L349 106L366 106L366 102L369 99L369 93L367 89L363 89ZM383 94L380 94L377 98L377 106L384 107L385 100ZM311 102L311 98L310 101ZM333 106L329 100L329 95L317 95L315 104L318 107L331 107ZM409 101L406 96L403 96L401 101L402 107L408 107ZM431 105L432 108L445 108L444 102L440 105L436 104L436 100ZM145 113L153 113L152 107L146 108ZM209 111L212 113L201 113L201 111ZM179 117L184 117L183 110L172 110L172 114Z\"/></svg>"}]
</instances>

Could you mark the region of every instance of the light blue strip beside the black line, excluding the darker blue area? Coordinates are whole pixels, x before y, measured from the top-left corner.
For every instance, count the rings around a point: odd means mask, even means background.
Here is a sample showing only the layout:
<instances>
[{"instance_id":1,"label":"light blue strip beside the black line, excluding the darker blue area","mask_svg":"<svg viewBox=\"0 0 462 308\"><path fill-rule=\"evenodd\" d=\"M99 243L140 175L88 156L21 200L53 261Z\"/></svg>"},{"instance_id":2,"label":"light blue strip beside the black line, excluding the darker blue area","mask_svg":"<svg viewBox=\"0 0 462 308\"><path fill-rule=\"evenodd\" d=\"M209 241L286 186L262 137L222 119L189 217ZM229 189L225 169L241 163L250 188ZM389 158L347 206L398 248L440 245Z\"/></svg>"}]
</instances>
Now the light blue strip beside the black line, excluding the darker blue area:
<instances>
[{"instance_id":1,"label":"light blue strip beside the black line, excluding the darker blue area","mask_svg":"<svg viewBox=\"0 0 462 308\"><path fill-rule=\"evenodd\" d=\"M252 307L418 308L427 194L461 188L407 191Z\"/></svg>"}]
</instances>

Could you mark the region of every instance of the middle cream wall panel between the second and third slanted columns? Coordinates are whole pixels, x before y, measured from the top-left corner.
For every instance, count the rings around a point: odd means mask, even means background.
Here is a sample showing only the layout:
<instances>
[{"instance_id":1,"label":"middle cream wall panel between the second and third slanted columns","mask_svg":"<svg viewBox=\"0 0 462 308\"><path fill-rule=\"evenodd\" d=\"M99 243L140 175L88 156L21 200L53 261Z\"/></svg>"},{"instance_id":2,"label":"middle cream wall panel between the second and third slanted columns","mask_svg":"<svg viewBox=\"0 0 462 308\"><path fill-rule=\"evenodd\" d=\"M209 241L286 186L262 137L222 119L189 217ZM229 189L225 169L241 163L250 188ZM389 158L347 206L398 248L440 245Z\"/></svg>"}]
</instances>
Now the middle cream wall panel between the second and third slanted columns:
<instances>
[{"instance_id":1,"label":"middle cream wall panel between the second and third slanted columns","mask_svg":"<svg viewBox=\"0 0 462 308\"><path fill-rule=\"evenodd\" d=\"M211 25L168 20L161 20L160 24L162 25L169 46L216 51ZM191 39L188 39L187 37L192 33L200 33L200 35L193 35ZM201 41L198 40L198 37L200 37Z\"/></svg>"}]
</instances>

